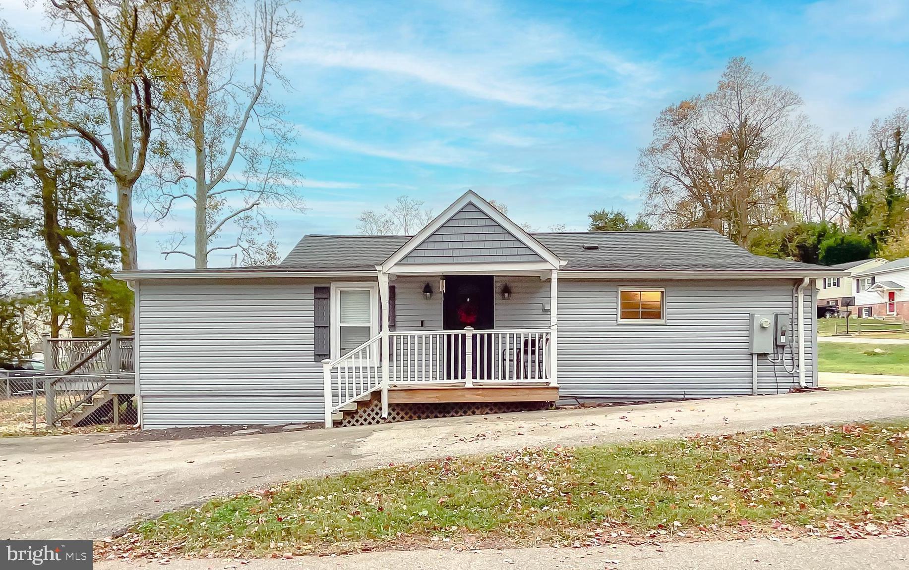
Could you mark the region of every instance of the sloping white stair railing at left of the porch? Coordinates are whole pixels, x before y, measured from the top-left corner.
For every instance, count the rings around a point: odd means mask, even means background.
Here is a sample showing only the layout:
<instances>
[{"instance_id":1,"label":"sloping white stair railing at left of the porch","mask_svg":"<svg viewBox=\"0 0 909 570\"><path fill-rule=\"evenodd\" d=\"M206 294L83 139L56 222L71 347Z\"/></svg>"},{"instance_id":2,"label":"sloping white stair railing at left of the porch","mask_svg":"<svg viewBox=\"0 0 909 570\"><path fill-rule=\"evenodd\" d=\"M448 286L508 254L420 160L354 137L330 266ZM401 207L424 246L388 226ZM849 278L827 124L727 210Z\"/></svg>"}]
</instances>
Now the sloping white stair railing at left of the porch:
<instances>
[{"instance_id":1,"label":"sloping white stair railing at left of the porch","mask_svg":"<svg viewBox=\"0 0 909 570\"><path fill-rule=\"evenodd\" d=\"M336 411L382 387L381 340L380 333L341 358L322 361L325 427L331 427Z\"/></svg>"}]
</instances>

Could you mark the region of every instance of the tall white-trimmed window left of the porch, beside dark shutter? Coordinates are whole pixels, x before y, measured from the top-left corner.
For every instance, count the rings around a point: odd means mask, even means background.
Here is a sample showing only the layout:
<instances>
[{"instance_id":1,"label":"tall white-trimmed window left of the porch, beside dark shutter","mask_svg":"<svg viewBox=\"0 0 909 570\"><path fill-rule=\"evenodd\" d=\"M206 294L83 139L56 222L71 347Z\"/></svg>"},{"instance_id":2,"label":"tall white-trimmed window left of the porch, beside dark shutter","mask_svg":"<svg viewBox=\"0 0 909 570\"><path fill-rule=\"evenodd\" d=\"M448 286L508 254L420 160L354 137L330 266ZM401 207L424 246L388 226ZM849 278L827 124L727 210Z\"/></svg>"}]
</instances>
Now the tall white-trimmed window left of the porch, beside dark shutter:
<instances>
[{"instance_id":1,"label":"tall white-trimmed window left of the porch, beside dark shutter","mask_svg":"<svg viewBox=\"0 0 909 570\"><path fill-rule=\"evenodd\" d=\"M332 358L342 357L379 332L374 284L332 284Z\"/></svg>"}]
</instances>

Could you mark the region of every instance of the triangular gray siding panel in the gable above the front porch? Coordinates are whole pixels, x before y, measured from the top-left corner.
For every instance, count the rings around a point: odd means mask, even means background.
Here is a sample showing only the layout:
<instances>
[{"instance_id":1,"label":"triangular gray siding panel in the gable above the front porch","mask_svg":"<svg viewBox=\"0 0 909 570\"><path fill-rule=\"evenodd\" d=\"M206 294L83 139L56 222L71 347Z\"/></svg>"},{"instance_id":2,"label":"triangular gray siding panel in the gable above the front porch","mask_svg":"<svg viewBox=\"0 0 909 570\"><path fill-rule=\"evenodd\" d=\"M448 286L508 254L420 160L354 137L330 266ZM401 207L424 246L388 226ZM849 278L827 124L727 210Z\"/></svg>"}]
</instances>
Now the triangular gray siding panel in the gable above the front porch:
<instances>
[{"instance_id":1,"label":"triangular gray siding panel in the gable above the front porch","mask_svg":"<svg viewBox=\"0 0 909 570\"><path fill-rule=\"evenodd\" d=\"M401 263L540 261L523 241L483 211L467 203L407 254Z\"/></svg>"}]
</instances>

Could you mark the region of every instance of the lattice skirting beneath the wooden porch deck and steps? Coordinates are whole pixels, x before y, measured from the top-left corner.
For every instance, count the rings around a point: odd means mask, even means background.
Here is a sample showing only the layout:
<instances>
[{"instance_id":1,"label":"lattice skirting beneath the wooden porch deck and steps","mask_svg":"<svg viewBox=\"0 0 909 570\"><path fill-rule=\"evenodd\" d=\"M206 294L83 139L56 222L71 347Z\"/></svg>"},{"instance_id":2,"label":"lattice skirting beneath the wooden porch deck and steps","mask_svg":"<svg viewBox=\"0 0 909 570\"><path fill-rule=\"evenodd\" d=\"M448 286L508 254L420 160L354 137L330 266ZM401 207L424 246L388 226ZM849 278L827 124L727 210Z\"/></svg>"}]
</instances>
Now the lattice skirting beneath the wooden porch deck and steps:
<instances>
[{"instance_id":1,"label":"lattice skirting beneath the wooden porch deck and steps","mask_svg":"<svg viewBox=\"0 0 909 570\"><path fill-rule=\"evenodd\" d=\"M398 421L429 418L461 418L483 416L484 414L505 414L508 412L552 409L555 402L444 402L425 404L389 404L388 418L382 418L382 400L374 396L368 402L360 402L355 410L346 411L335 426L375 426Z\"/></svg>"}]
</instances>

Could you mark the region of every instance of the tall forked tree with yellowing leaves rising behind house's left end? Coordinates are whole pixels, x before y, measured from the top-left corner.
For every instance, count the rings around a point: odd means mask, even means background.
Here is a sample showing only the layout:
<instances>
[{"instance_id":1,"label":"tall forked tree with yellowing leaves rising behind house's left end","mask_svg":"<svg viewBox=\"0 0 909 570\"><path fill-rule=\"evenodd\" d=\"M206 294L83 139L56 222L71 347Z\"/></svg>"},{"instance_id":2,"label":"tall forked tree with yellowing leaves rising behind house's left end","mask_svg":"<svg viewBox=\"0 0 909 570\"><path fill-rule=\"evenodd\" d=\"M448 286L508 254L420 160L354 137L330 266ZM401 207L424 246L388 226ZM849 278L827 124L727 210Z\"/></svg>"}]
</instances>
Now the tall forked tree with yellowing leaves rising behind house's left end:
<instances>
[{"instance_id":1,"label":"tall forked tree with yellowing leaves rising behind house's left end","mask_svg":"<svg viewBox=\"0 0 909 570\"><path fill-rule=\"evenodd\" d=\"M153 78L163 73L163 47L185 4L48 0L47 14L60 25L63 40L38 50L53 70L40 85L42 101L113 176L127 270L137 267L133 189L145 170L160 101Z\"/></svg>"}]
</instances>

